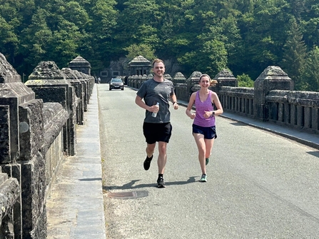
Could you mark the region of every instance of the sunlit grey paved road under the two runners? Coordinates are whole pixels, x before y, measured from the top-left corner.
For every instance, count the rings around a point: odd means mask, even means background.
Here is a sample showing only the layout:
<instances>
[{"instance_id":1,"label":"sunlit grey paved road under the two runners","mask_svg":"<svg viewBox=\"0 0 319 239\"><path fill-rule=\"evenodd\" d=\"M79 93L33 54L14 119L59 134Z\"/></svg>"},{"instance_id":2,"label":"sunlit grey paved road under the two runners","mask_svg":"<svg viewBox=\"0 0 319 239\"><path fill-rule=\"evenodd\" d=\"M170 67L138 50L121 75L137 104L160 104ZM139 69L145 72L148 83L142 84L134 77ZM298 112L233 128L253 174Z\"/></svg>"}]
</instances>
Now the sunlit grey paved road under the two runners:
<instances>
[{"instance_id":1,"label":"sunlit grey paved road under the two runners","mask_svg":"<svg viewBox=\"0 0 319 239\"><path fill-rule=\"evenodd\" d=\"M167 187L156 188L156 161L143 170L144 111L135 96L98 85L107 238L319 238L318 149L219 117L208 182L199 183L181 106L171 110Z\"/></svg>"}]
</instances>

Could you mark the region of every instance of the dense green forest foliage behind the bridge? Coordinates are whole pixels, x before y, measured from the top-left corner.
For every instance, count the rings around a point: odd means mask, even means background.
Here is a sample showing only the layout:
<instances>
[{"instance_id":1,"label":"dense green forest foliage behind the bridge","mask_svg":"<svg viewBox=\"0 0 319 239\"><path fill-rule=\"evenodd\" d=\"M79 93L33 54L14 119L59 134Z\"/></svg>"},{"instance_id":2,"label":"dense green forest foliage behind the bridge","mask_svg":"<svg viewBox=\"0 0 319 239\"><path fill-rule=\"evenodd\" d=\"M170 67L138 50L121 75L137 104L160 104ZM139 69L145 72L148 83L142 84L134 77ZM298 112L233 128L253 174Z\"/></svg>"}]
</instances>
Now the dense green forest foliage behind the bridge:
<instances>
[{"instance_id":1,"label":"dense green forest foliage behind the bridge","mask_svg":"<svg viewBox=\"0 0 319 239\"><path fill-rule=\"evenodd\" d=\"M76 56L98 72L142 53L245 82L280 66L295 89L319 91L318 0L0 0L0 36L21 75Z\"/></svg>"}]
</instances>

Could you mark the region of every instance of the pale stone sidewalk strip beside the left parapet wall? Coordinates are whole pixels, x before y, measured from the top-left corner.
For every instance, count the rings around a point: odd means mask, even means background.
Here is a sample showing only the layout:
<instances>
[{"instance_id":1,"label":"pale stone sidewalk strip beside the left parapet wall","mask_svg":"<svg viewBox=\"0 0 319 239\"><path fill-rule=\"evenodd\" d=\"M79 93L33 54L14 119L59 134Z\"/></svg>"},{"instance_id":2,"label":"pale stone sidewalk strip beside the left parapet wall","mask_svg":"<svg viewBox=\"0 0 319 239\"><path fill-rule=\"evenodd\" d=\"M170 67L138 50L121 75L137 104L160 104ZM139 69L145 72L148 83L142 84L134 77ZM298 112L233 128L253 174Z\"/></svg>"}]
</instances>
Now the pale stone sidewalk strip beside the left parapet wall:
<instances>
[{"instance_id":1,"label":"pale stone sidewalk strip beside the left parapet wall","mask_svg":"<svg viewBox=\"0 0 319 239\"><path fill-rule=\"evenodd\" d=\"M105 239L96 85L76 134L76 156L61 164L46 202L47 238Z\"/></svg>"}]
</instances>

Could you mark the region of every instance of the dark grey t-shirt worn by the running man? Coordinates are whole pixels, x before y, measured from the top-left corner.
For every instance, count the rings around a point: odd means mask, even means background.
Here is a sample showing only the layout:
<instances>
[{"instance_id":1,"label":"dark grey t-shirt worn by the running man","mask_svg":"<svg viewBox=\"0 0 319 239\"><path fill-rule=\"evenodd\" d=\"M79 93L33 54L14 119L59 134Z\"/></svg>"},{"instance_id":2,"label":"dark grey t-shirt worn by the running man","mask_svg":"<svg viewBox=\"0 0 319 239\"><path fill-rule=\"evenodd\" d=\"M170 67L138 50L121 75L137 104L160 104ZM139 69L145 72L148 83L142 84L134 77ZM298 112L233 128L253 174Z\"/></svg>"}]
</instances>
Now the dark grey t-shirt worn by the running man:
<instances>
[{"instance_id":1,"label":"dark grey t-shirt worn by the running man","mask_svg":"<svg viewBox=\"0 0 319 239\"><path fill-rule=\"evenodd\" d=\"M141 88L138 89L138 96L143 98L148 106L154 106L159 103L159 111L156 117L152 117L152 112L146 111L144 122L146 123L168 123L171 121L171 113L169 111L169 99L174 94L173 82L164 79L163 82L149 79L144 81Z\"/></svg>"}]
</instances>

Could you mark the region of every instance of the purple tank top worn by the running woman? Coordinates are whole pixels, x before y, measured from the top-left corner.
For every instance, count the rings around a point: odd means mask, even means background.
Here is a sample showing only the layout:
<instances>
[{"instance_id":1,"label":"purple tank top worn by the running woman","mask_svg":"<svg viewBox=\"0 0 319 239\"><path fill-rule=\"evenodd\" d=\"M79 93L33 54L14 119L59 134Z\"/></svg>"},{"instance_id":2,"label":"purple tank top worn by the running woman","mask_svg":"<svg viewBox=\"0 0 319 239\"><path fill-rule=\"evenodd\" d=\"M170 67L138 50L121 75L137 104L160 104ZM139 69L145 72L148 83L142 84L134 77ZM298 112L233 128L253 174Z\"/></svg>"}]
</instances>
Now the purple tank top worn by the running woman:
<instances>
[{"instance_id":1,"label":"purple tank top worn by the running woman","mask_svg":"<svg viewBox=\"0 0 319 239\"><path fill-rule=\"evenodd\" d=\"M196 93L195 98L195 107L196 107L196 116L194 118L194 124L196 126L202 127L211 127L215 126L215 116L211 116L210 118L204 118L205 111L213 111L213 105L211 103L211 93L209 91L208 97L206 101L202 102L199 98L199 91Z\"/></svg>"}]
</instances>

